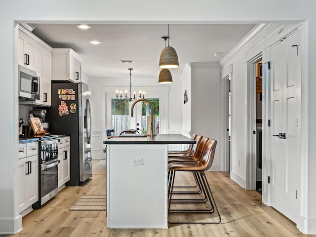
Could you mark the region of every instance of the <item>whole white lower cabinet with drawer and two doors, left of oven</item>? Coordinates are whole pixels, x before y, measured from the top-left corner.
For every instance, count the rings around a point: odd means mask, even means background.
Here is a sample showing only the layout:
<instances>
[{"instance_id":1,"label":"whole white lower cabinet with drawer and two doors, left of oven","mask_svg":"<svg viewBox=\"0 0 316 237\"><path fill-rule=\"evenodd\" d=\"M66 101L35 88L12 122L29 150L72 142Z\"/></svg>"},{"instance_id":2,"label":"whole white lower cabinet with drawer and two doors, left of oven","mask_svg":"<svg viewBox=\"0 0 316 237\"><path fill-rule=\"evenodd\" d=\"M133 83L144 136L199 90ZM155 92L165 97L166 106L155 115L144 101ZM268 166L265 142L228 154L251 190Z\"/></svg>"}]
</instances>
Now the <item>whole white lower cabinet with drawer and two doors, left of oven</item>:
<instances>
[{"instance_id":1,"label":"whole white lower cabinet with drawer and two doors, left of oven","mask_svg":"<svg viewBox=\"0 0 316 237\"><path fill-rule=\"evenodd\" d=\"M26 148L24 158L19 156L17 168L19 212L39 200L38 144L38 142L19 144L19 149ZM31 156L28 156L28 154Z\"/></svg>"}]
</instances>

